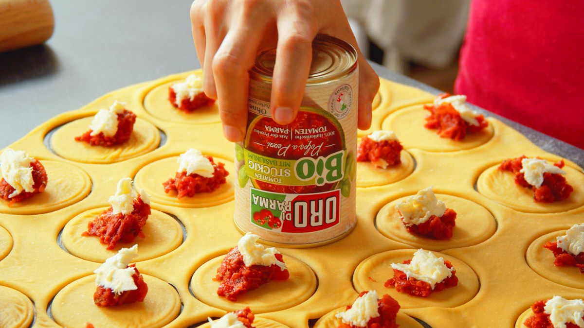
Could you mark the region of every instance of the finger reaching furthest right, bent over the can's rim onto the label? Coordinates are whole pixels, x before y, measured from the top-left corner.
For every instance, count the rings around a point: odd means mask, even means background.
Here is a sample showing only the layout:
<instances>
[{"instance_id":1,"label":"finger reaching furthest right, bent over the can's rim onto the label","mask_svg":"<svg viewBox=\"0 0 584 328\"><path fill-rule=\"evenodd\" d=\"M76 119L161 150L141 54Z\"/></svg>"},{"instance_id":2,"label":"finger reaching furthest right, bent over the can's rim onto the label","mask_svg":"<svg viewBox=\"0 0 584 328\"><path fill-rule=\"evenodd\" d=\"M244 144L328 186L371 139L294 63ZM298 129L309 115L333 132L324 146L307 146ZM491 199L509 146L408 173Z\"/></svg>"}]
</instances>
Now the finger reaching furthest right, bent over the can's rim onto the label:
<instances>
[{"instance_id":1,"label":"finger reaching furthest right, bent over the can's rim onto the label","mask_svg":"<svg viewBox=\"0 0 584 328\"><path fill-rule=\"evenodd\" d=\"M272 80L272 118L294 120L304 96L318 24L310 2L298 1L278 13L278 43Z\"/></svg>"}]
</instances>

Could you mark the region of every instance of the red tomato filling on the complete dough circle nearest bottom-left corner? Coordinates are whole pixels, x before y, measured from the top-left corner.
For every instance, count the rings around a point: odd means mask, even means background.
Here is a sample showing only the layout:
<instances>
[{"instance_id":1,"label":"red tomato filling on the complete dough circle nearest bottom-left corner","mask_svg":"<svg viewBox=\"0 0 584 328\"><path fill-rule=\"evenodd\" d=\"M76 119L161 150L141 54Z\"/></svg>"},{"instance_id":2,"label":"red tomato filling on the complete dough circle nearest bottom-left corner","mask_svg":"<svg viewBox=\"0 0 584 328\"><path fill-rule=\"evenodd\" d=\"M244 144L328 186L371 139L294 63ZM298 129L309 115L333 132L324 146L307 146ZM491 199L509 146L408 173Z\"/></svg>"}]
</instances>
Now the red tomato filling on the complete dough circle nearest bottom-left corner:
<instances>
[{"instance_id":1,"label":"red tomato filling on the complete dough circle nearest bottom-left corner","mask_svg":"<svg viewBox=\"0 0 584 328\"><path fill-rule=\"evenodd\" d=\"M98 286L95 293L93 293L93 303L97 306L116 306L135 302L144 302L144 298L148 293L148 285L144 282L144 278L135 267L136 264L130 264L128 267L134 267L135 273L132 275L134 284L138 289L133 291L123 291L116 294L110 288Z\"/></svg>"}]
</instances>

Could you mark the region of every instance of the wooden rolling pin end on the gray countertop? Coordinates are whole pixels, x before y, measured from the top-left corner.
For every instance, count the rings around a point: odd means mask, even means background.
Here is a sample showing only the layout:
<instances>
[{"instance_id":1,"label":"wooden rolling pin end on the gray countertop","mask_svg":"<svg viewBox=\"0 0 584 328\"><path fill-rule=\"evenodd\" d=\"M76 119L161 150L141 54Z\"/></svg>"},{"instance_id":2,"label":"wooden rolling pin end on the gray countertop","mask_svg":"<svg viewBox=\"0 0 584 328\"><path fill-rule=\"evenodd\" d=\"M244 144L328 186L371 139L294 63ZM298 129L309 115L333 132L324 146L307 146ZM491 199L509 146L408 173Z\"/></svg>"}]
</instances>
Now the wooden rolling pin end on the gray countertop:
<instances>
[{"instance_id":1,"label":"wooden rolling pin end on the gray countertop","mask_svg":"<svg viewBox=\"0 0 584 328\"><path fill-rule=\"evenodd\" d=\"M54 28L48 0L0 0L0 52L41 44Z\"/></svg>"}]
</instances>

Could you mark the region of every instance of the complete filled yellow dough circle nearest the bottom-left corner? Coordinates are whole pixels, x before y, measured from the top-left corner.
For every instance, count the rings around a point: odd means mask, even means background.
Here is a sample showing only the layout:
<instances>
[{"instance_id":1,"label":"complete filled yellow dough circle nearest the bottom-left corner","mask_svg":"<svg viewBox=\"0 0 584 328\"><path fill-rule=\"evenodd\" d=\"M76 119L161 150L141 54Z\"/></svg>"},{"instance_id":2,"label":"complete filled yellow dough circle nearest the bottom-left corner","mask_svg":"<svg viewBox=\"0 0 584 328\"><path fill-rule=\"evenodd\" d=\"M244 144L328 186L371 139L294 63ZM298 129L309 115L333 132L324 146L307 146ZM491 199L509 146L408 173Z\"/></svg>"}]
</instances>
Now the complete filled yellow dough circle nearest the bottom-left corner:
<instances>
[{"instance_id":1,"label":"complete filled yellow dough circle nearest the bottom-left corner","mask_svg":"<svg viewBox=\"0 0 584 328\"><path fill-rule=\"evenodd\" d=\"M180 297L168 283L142 276L148 285L144 302L121 306L100 307L93 303L95 274L71 282L55 295L53 318L64 327L85 327L86 323L95 327L162 327L179 315Z\"/></svg>"}]
</instances>

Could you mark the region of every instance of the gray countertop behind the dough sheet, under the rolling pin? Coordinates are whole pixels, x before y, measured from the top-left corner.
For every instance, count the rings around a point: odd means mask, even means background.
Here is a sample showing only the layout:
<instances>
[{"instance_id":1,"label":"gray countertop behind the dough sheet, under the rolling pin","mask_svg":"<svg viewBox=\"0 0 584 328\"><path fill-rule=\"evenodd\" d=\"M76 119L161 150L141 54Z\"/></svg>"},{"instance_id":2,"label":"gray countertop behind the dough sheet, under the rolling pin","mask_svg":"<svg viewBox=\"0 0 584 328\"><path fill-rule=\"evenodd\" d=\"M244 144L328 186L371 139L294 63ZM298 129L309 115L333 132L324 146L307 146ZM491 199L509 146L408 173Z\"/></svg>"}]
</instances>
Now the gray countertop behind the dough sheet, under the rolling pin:
<instances>
[{"instance_id":1,"label":"gray countertop behind the dough sheet, under the rolling pin","mask_svg":"<svg viewBox=\"0 0 584 328\"><path fill-rule=\"evenodd\" d=\"M59 113L105 93L200 68L190 32L191 0L53 1L55 31L41 46L0 53L0 149ZM430 88L374 65L383 78ZM584 167L584 151L513 121L545 151Z\"/></svg>"}]
</instances>

